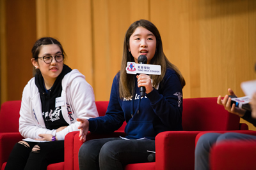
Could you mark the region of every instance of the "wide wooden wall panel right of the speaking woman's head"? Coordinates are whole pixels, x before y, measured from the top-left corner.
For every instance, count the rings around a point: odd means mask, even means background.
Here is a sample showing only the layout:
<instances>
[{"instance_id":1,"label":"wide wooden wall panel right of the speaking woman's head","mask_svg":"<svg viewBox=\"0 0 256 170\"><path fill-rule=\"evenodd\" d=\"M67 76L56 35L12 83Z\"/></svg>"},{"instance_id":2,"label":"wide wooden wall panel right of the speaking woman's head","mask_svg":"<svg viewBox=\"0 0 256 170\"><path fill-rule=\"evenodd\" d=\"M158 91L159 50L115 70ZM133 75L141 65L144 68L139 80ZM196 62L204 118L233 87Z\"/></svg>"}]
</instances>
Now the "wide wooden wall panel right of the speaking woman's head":
<instances>
[{"instance_id":1,"label":"wide wooden wall panel right of the speaking woman's head","mask_svg":"<svg viewBox=\"0 0 256 170\"><path fill-rule=\"evenodd\" d=\"M150 7L164 53L186 79L184 97L223 96L229 87L244 96L240 83L255 78L255 1L152 0Z\"/></svg>"}]
</instances>

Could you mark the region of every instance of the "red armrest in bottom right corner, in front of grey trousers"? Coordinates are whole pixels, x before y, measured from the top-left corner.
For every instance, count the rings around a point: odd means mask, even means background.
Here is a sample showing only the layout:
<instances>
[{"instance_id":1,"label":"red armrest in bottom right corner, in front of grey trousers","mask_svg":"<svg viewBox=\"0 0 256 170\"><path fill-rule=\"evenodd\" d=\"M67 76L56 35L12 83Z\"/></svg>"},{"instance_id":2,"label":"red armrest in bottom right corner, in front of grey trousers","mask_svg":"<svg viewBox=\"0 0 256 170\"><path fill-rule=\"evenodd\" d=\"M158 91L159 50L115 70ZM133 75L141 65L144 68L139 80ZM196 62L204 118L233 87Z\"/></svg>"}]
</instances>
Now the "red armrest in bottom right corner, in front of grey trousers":
<instances>
[{"instance_id":1,"label":"red armrest in bottom right corner, in front of grey trousers","mask_svg":"<svg viewBox=\"0 0 256 170\"><path fill-rule=\"evenodd\" d=\"M255 134L256 135L256 134ZM212 147L212 170L256 169L256 141L223 141Z\"/></svg>"}]
</instances>

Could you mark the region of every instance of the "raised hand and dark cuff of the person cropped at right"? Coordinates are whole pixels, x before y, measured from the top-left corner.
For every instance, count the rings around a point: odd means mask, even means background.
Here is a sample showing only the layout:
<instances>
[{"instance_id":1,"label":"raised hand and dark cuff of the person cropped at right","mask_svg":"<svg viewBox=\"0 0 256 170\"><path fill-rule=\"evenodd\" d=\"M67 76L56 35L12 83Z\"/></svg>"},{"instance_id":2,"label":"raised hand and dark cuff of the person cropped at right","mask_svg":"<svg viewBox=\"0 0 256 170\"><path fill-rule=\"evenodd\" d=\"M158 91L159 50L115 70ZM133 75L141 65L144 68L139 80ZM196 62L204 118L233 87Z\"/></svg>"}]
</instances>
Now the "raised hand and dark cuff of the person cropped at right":
<instances>
[{"instance_id":1,"label":"raised hand and dark cuff of the person cropped at right","mask_svg":"<svg viewBox=\"0 0 256 170\"><path fill-rule=\"evenodd\" d=\"M233 90L228 89L228 93L230 94L230 96L236 96L233 92ZM230 113L234 113L235 115L238 115L239 117L243 117L245 110L241 109L241 108L237 108L235 104L232 104L231 107L231 98L228 97L228 95L226 95L223 100L221 100L221 96L218 97L217 99L217 103L220 105L223 105L225 110L227 110Z\"/></svg>"}]
</instances>

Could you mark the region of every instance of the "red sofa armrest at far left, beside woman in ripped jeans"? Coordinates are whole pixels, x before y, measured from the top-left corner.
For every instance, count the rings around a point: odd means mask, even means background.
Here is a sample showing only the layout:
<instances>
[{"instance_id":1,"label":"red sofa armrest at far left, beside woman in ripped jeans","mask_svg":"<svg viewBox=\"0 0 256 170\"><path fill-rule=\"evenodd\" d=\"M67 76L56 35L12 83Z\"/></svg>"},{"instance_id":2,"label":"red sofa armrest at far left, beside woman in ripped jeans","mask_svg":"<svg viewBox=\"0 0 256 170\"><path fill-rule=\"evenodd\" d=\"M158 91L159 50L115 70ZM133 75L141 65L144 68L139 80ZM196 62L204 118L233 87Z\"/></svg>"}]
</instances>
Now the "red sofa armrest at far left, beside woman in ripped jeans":
<instances>
[{"instance_id":1,"label":"red sofa armrest at far left, beside woman in ripped jeans","mask_svg":"<svg viewBox=\"0 0 256 170\"><path fill-rule=\"evenodd\" d=\"M7 162L15 143L24 139L19 132L0 133L0 165Z\"/></svg>"}]
</instances>

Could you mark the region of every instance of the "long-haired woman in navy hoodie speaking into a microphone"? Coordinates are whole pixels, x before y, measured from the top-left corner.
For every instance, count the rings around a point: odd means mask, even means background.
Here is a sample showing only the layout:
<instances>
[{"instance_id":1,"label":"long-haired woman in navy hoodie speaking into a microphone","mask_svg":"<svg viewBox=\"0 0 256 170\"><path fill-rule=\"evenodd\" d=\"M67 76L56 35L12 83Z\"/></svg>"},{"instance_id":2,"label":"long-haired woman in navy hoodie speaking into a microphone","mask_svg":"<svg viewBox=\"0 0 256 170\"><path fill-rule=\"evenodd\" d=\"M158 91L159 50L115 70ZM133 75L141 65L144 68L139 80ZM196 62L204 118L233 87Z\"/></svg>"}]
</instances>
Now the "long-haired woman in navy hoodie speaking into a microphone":
<instances>
[{"instance_id":1,"label":"long-haired woman in navy hoodie speaking into a microphone","mask_svg":"<svg viewBox=\"0 0 256 170\"><path fill-rule=\"evenodd\" d=\"M138 63L140 55L147 64L161 66L161 75L127 74L127 62ZM104 117L77 119L80 139L88 131L108 133L127 122L125 138L86 141L79 150L79 169L123 169L125 164L148 162L155 150L155 137L163 131L182 131L182 88L185 80L179 69L163 53L161 36L148 20L131 24L125 34L120 72L116 74ZM145 87L145 97L140 88Z\"/></svg>"}]
</instances>

